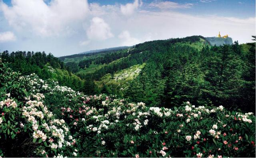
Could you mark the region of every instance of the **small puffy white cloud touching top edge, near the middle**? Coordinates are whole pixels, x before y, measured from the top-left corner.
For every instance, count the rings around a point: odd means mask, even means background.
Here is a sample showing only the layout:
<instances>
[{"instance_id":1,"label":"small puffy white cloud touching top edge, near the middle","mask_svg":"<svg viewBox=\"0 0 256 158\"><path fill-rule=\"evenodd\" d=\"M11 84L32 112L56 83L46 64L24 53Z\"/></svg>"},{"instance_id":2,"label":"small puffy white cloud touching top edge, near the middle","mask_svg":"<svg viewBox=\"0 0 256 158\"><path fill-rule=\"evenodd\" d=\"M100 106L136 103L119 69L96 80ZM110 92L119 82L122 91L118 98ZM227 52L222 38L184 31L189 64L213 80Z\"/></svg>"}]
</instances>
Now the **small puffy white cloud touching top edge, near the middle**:
<instances>
[{"instance_id":1,"label":"small puffy white cloud touching top edge, near the middle","mask_svg":"<svg viewBox=\"0 0 256 158\"><path fill-rule=\"evenodd\" d=\"M125 6L121 5L120 9L122 14L129 16L134 14L135 10L138 9L139 6L142 6L142 0L134 0L134 3L127 3Z\"/></svg>"}]
</instances>

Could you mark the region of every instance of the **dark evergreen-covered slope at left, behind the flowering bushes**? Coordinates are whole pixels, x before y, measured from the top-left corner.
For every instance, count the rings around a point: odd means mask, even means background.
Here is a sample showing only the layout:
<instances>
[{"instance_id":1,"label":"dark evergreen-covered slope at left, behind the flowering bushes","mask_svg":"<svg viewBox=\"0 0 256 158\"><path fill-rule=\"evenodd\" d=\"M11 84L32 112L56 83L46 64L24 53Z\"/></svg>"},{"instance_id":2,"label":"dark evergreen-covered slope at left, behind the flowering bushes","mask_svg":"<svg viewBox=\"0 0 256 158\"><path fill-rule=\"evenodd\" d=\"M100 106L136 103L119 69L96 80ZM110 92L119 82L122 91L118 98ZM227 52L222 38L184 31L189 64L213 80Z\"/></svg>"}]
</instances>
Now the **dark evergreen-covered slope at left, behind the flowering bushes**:
<instances>
[{"instance_id":1,"label":"dark evergreen-covered slope at left, behind the flowering bushes","mask_svg":"<svg viewBox=\"0 0 256 158\"><path fill-rule=\"evenodd\" d=\"M82 91L84 81L68 71L64 62L54 57L51 53L16 51L9 53L3 51L0 58L8 62L10 68L22 75L37 74L43 80L54 79L62 86L68 86L74 90Z\"/></svg>"}]
</instances>

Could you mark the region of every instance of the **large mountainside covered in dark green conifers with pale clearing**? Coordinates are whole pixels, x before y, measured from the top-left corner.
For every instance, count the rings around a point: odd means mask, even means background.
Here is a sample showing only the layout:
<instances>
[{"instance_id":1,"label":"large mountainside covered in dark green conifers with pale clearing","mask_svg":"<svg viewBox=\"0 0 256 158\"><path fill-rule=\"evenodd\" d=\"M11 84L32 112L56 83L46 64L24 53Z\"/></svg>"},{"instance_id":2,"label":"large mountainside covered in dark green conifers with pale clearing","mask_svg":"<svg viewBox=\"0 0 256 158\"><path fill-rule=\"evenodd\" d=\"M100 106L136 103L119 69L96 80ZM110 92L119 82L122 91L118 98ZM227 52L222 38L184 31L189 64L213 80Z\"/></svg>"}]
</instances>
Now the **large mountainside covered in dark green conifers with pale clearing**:
<instances>
[{"instance_id":1,"label":"large mountainside covered in dark green conifers with pale clearing","mask_svg":"<svg viewBox=\"0 0 256 158\"><path fill-rule=\"evenodd\" d=\"M255 43L211 46L202 36L61 58L86 94L116 94L151 106L226 105L255 110Z\"/></svg>"}]
</instances>

